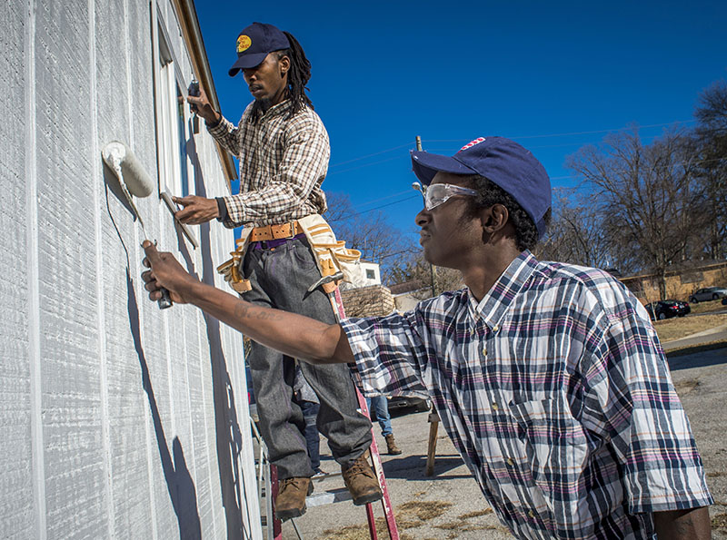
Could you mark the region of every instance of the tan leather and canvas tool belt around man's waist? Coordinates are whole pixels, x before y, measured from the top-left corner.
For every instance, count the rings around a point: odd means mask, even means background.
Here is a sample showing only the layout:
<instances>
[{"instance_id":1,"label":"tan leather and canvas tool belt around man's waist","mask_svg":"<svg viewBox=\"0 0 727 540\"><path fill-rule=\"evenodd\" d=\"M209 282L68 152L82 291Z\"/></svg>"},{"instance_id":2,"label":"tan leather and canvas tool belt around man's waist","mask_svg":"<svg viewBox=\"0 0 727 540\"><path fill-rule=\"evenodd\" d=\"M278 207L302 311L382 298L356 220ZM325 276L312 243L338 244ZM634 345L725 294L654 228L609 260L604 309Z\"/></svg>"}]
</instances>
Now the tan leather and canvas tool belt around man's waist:
<instances>
[{"instance_id":1,"label":"tan leather and canvas tool belt around man's waist","mask_svg":"<svg viewBox=\"0 0 727 540\"><path fill-rule=\"evenodd\" d=\"M336 240L331 226L319 214L305 216L298 221L289 221L281 225L265 225L263 227L245 227L237 241L237 249L230 253L232 259L226 260L217 267L236 292L242 294L251 290L250 280L245 280L241 271L244 254L251 242L292 239L303 232L313 249L315 260L321 276L330 276L342 271L344 281L354 284L364 282L364 270L361 268L361 251L345 247L345 241ZM340 281L324 284L324 290L335 290Z\"/></svg>"}]
</instances>

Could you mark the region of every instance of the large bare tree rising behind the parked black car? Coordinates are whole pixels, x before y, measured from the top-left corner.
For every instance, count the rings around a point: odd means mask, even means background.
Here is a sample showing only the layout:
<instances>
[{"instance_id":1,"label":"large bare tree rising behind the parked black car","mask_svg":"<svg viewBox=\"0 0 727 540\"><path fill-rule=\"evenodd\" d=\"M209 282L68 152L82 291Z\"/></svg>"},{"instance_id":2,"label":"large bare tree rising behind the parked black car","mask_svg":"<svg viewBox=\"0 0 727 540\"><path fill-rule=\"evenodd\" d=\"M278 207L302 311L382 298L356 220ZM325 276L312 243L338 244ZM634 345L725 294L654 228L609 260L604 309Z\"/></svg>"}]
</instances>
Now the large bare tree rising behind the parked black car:
<instances>
[{"instance_id":1,"label":"large bare tree rising behind the parked black car","mask_svg":"<svg viewBox=\"0 0 727 540\"><path fill-rule=\"evenodd\" d=\"M667 267L691 256L704 224L697 161L686 133L671 131L645 146L636 129L568 158L569 168L593 186L594 208L602 215L612 253L654 271L662 298Z\"/></svg>"}]
</instances>

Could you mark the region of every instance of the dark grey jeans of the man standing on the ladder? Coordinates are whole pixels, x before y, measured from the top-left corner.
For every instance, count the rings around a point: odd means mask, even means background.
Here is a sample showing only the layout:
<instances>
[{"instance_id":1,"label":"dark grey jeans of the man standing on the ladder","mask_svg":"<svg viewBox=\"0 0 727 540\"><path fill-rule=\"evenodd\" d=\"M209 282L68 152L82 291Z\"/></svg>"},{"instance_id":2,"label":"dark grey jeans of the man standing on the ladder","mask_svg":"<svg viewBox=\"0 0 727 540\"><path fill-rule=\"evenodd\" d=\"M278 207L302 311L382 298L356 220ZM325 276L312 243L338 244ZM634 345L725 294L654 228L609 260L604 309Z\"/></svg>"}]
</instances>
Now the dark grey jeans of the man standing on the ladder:
<instances>
[{"instance_id":1,"label":"dark grey jeans of the man standing on the ladder","mask_svg":"<svg viewBox=\"0 0 727 540\"><path fill-rule=\"evenodd\" d=\"M258 246L260 244L257 244ZM331 301L321 288L308 292L321 272L306 239L272 249L251 244L243 260L252 290L243 298L256 305L292 311L328 324L336 322ZM313 476L303 436L305 419L294 402L294 359L253 341L248 358L260 432L281 479ZM347 467L371 446L371 422L358 411L358 398L344 364L314 366L300 362L305 380L321 402L316 426L328 439L334 459Z\"/></svg>"}]
</instances>

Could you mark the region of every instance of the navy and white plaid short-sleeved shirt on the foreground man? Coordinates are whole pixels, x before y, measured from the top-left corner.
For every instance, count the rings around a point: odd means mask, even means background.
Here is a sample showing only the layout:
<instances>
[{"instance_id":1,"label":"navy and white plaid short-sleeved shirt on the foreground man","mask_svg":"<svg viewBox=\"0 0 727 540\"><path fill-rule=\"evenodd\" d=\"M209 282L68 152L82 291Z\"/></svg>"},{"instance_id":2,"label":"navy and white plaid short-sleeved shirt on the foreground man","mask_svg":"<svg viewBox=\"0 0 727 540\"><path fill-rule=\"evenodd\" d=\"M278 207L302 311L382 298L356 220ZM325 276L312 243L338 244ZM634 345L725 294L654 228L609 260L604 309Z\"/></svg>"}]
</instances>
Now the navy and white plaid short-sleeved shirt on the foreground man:
<instances>
[{"instance_id":1,"label":"navy and white plaid short-sleeved shirt on the foreground man","mask_svg":"<svg viewBox=\"0 0 727 540\"><path fill-rule=\"evenodd\" d=\"M652 512L712 504L641 303L601 271L524 251L469 290L347 319L364 393L426 388L521 538L650 538Z\"/></svg>"}]
</instances>

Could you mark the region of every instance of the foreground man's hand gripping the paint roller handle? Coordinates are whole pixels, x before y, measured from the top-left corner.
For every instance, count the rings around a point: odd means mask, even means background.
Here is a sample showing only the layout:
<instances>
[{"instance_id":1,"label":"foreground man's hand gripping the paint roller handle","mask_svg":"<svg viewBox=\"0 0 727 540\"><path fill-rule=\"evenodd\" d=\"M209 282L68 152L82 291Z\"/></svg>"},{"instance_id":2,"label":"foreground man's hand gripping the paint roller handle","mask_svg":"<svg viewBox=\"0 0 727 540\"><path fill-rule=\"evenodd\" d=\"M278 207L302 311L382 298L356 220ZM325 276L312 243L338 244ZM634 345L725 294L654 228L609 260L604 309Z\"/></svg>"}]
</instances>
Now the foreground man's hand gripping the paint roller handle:
<instances>
[{"instance_id":1,"label":"foreground man's hand gripping the paint roller handle","mask_svg":"<svg viewBox=\"0 0 727 540\"><path fill-rule=\"evenodd\" d=\"M144 288L149 291L149 299L158 300L162 298L159 291L162 287L169 291L169 296L177 304L186 304L189 299L186 297L190 287L193 287L195 280L182 265L174 259L174 255L156 250L150 241L144 241L144 266L152 270L142 273Z\"/></svg>"}]
</instances>

